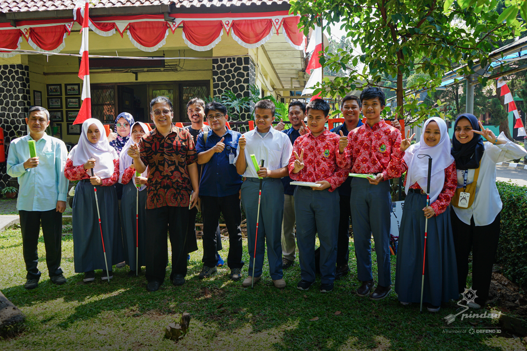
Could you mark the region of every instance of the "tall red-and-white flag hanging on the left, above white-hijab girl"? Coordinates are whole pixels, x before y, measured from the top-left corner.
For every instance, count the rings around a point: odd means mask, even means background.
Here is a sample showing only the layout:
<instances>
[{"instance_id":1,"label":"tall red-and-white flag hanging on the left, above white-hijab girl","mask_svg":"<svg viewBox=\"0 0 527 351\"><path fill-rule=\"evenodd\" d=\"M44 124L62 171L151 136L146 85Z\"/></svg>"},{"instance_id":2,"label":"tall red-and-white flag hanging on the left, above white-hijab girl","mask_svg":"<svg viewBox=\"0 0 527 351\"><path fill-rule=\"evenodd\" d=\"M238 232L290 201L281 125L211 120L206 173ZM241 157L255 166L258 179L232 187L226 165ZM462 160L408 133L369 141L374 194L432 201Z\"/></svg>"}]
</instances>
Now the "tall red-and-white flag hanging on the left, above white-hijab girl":
<instances>
[{"instance_id":1,"label":"tall red-and-white flag hanging on the left, above white-hijab girl","mask_svg":"<svg viewBox=\"0 0 527 351\"><path fill-rule=\"evenodd\" d=\"M81 78L84 83L82 84L82 105L75 118L73 124L80 124L86 121L88 118L92 118L92 98L90 94L90 62L88 59L88 32L90 31L88 27L88 9L90 3L89 0L86 0L84 5L84 21L82 23L82 44L79 54L82 55L81 67L79 68L79 78Z\"/></svg>"}]
</instances>

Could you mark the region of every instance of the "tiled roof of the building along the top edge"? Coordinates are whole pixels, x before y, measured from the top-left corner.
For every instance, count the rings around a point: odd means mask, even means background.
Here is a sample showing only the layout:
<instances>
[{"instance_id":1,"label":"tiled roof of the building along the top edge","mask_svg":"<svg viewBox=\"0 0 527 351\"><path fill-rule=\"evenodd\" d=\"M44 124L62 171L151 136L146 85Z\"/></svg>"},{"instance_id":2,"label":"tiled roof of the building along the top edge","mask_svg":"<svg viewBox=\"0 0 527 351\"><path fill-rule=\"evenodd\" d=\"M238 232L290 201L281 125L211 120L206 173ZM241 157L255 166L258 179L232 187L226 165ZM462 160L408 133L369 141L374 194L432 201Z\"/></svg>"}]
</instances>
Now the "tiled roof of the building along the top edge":
<instances>
[{"instance_id":1,"label":"tiled roof of the building along the top edge","mask_svg":"<svg viewBox=\"0 0 527 351\"><path fill-rule=\"evenodd\" d=\"M96 2L96 1L95 1ZM288 4L287 0L100 0L93 7L170 5L177 8L217 6L257 6ZM72 0L1 0L0 12L52 11L73 9Z\"/></svg>"}]
</instances>

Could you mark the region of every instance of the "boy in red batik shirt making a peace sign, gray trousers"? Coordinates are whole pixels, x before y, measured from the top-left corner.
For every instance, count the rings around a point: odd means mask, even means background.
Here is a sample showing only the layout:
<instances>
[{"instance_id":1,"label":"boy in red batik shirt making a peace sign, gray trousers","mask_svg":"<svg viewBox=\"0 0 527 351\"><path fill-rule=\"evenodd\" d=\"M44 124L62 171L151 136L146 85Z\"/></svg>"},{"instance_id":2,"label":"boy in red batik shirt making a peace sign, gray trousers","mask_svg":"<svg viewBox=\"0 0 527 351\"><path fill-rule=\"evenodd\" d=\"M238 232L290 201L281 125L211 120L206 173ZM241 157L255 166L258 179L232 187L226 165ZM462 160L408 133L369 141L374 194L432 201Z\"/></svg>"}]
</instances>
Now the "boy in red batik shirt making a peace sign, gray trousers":
<instances>
[{"instance_id":1,"label":"boy in red batik shirt making a peace sign, gray trousers","mask_svg":"<svg viewBox=\"0 0 527 351\"><path fill-rule=\"evenodd\" d=\"M329 104L313 99L306 106L310 132L296 139L289 159L289 176L301 182L315 182L319 187L297 186L295 216L300 256L300 290L315 283L315 234L320 240L320 292L333 290L337 257L339 195L337 188L348 170L337 165L339 137L325 128Z\"/></svg>"}]
</instances>

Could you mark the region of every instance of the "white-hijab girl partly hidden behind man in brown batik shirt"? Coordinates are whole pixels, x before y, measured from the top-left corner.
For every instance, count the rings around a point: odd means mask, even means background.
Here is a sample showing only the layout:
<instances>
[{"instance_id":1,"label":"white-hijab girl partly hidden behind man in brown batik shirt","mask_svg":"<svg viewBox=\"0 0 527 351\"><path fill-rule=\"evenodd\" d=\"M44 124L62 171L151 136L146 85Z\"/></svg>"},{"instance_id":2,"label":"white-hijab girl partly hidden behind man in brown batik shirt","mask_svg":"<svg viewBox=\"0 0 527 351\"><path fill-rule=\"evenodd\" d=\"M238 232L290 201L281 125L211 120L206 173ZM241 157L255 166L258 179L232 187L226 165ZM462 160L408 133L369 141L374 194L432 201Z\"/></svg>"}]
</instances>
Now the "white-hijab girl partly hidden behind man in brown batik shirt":
<instances>
[{"instance_id":1,"label":"white-hijab girl partly hidden behind man in brown batik shirt","mask_svg":"<svg viewBox=\"0 0 527 351\"><path fill-rule=\"evenodd\" d=\"M147 237L147 188L148 167L139 176L135 176L133 158L128 156L128 149L131 145L139 143L141 137L150 131L148 126L142 122L135 122L130 128L130 136L123 146L119 156L119 183L123 184L123 196L121 198L121 216L123 219L122 228L124 233L124 249L126 263L130 267L128 277L136 275L135 269L145 265L145 239ZM139 186L139 232L136 232L136 205L137 205L137 185ZM136 263L136 238L139 242L139 262Z\"/></svg>"}]
</instances>

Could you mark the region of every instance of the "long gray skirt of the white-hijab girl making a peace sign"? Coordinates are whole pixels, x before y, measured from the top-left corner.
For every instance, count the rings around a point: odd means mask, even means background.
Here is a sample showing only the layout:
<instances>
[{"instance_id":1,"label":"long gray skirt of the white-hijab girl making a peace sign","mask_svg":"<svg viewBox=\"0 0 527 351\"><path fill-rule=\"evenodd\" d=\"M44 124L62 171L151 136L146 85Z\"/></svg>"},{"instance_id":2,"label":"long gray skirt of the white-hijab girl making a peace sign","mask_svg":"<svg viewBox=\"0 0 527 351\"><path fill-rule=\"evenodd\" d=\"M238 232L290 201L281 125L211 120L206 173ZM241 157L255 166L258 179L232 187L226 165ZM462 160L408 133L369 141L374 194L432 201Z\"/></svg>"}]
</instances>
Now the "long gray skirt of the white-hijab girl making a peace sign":
<instances>
[{"instance_id":1,"label":"long gray skirt of the white-hijab girl making a peace sign","mask_svg":"<svg viewBox=\"0 0 527 351\"><path fill-rule=\"evenodd\" d=\"M408 193L404 202L395 292L401 302L421 301L426 195ZM428 219L423 303L440 306L457 299L457 266L450 210Z\"/></svg>"}]
</instances>

